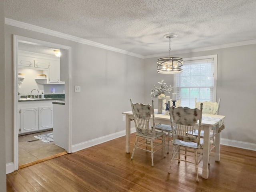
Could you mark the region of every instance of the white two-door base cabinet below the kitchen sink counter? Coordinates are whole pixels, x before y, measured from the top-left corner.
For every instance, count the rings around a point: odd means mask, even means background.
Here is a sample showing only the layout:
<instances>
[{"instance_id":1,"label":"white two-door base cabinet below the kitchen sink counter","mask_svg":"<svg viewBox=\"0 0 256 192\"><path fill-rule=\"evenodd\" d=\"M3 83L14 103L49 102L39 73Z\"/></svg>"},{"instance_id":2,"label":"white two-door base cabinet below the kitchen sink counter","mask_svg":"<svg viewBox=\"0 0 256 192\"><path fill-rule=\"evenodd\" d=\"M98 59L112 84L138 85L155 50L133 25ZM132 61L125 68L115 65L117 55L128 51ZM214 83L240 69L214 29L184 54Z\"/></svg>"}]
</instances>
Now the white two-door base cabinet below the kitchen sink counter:
<instances>
[{"instance_id":1,"label":"white two-door base cabinet below the kitchen sink counter","mask_svg":"<svg viewBox=\"0 0 256 192\"><path fill-rule=\"evenodd\" d=\"M53 128L52 100L18 102L19 134Z\"/></svg>"}]
</instances>

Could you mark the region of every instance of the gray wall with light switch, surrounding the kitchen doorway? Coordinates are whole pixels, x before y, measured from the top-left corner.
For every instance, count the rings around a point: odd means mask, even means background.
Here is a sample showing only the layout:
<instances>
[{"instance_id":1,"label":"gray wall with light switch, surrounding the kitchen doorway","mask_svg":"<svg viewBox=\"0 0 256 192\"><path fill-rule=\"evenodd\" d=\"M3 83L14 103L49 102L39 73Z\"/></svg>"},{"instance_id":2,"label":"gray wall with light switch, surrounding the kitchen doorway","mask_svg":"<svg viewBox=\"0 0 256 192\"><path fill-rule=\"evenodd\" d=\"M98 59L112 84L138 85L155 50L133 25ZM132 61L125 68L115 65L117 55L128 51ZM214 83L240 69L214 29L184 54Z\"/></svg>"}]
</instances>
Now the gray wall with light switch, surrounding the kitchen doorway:
<instances>
[{"instance_id":1,"label":"gray wall with light switch, surrounding the kitchen doorway","mask_svg":"<svg viewBox=\"0 0 256 192\"><path fill-rule=\"evenodd\" d=\"M6 164L13 162L13 34L70 46L72 145L125 130L130 98L143 100L143 59L6 25ZM81 92L74 92L74 86ZM65 93L67 94L67 93Z\"/></svg>"}]
</instances>

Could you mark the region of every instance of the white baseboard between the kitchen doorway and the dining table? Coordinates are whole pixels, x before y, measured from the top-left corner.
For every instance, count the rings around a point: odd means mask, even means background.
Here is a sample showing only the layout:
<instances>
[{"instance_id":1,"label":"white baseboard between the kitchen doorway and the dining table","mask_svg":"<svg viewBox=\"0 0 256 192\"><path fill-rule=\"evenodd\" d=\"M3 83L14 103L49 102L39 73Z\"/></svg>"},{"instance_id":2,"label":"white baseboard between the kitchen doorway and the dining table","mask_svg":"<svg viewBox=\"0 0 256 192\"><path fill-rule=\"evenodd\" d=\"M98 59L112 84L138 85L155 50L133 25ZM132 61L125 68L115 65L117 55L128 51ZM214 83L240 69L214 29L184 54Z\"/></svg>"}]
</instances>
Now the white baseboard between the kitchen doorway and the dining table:
<instances>
[{"instance_id":1,"label":"white baseboard between the kitchen doorway and the dining table","mask_svg":"<svg viewBox=\"0 0 256 192\"><path fill-rule=\"evenodd\" d=\"M131 133L134 133L134 132L136 132L136 129L131 128ZM73 145L72 153L95 146L95 145L98 145L98 144L101 144L101 143L104 143L104 142L107 142L107 141L110 141L110 140L113 140L113 139L116 139L116 138L119 138L119 137L122 137L122 136L125 136L125 130ZM125 150L125 148L124 148L124 150Z\"/></svg>"}]
</instances>

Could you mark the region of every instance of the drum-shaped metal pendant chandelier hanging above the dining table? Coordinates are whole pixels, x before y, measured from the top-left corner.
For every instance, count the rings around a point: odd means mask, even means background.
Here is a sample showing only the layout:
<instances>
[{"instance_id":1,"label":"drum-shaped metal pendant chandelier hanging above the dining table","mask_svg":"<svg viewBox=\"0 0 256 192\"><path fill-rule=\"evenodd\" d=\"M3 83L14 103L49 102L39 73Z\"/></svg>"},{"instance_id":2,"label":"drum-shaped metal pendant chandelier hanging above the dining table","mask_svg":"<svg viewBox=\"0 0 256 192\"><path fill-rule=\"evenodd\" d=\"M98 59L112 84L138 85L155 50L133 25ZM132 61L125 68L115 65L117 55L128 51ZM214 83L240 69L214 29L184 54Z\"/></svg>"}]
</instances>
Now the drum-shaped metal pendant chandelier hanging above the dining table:
<instances>
[{"instance_id":1,"label":"drum-shaped metal pendant chandelier hanging above the dining table","mask_svg":"<svg viewBox=\"0 0 256 192\"><path fill-rule=\"evenodd\" d=\"M167 34L163 37L169 39L169 57L160 58L157 60L156 72L163 74L181 73L183 66L183 59L178 57L171 57L171 38L176 38L177 34Z\"/></svg>"}]
</instances>

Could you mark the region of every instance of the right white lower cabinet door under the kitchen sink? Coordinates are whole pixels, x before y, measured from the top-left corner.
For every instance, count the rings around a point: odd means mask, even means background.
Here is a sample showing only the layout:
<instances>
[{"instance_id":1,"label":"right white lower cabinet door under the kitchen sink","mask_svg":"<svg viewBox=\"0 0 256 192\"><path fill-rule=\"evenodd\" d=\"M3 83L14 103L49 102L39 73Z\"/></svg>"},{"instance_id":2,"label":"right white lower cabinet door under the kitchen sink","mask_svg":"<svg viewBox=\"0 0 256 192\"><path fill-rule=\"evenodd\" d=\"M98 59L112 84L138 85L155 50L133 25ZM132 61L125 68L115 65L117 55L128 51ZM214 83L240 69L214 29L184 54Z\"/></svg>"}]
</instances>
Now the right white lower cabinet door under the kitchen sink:
<instances>
[{"instance_id":1,"label":"right white lower cabinet door under the kitchen sink","mask_svg":"<svg viewBox=\"0 0 256 192\"><path fill-rule=\"evenodd\" d=\"M53 128L52 106L39 107L39 130Z\"/></svg>"}]
</instances>

